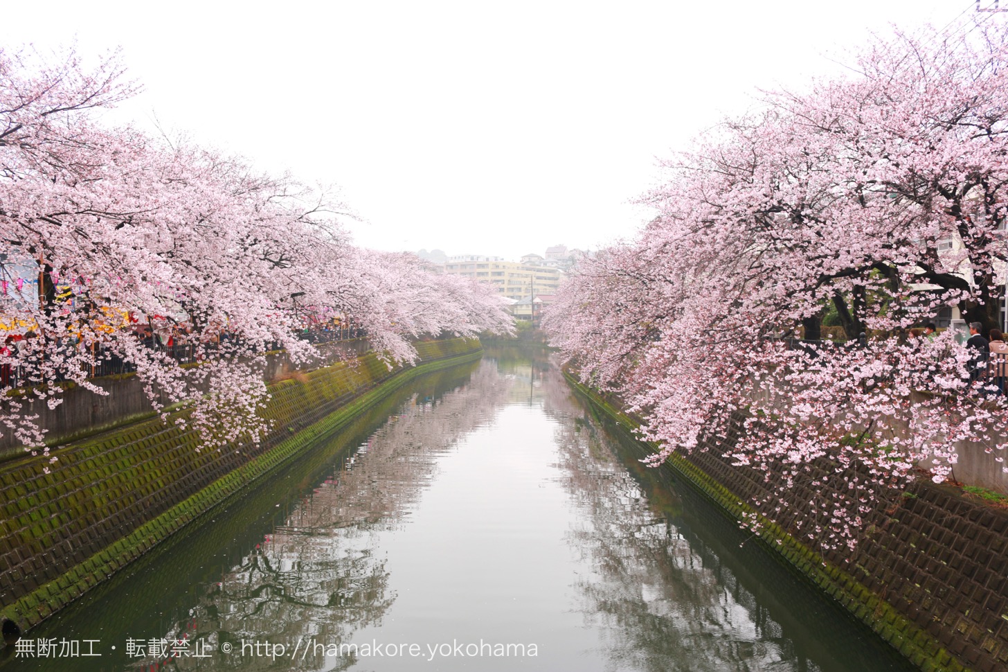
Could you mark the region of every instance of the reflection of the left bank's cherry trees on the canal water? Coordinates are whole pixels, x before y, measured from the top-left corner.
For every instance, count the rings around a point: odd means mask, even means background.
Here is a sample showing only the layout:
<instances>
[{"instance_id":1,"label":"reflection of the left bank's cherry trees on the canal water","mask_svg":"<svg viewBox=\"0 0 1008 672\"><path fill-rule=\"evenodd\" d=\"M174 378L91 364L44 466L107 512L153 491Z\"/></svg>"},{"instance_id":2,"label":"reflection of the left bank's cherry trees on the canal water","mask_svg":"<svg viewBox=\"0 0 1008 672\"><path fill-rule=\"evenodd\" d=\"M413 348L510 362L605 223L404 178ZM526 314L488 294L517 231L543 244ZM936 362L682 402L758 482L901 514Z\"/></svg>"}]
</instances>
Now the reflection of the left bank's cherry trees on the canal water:
<instances>
[{"instance_id":1,"label":"reflection of the left bank's cherry trees on the canal water","mask_svg":"<svg viewBox=\"0 0 1008 672\"><path fill-rule=\"evenodd\" d=\"M312 655L284 669L352 666L355 650L341 645L352 643L360 629L380 624L396 598L382 550L387 534L401 530L421 491L433 482L439 457L461 437L489 424L513 383L483 362L469 384L438 399L414 394L296 502L272 534L193 607L192 618L164 639L203 640L215 651L225 641L235 651L251 641L279 643L288 650L310 642ZM340 655L342 650L347 655ZM329 651L337 655L326 655ZM137 665L157 662L147 658ZM207 665L195 658L175 663L180 669ZM274 665L272 657L242 657L243 669Z\"/></svg>"}]
</instances>

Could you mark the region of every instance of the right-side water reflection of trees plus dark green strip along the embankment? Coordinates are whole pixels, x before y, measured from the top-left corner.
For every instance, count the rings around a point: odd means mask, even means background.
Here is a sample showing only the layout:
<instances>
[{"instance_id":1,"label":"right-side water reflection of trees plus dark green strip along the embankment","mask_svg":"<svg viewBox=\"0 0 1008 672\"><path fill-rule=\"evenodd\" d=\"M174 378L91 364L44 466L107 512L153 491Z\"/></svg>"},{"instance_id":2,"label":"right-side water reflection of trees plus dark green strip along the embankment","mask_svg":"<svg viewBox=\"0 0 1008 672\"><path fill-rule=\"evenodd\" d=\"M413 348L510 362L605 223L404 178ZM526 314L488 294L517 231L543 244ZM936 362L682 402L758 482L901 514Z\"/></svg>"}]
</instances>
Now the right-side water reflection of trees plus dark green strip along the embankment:
<instances>
[{"instance_id":1,"label":"right-side water reflection of trees plus dark green strip along the embankment","mask_svg":"<svg viewBox=\"0 0 1008 672\"><path fill-rule=\"evenodd\" d=\"M584 514L571 543L591 568L580 609L609 669L911 669L755 544L740 547L747 536L668 469L644 467L625 428L552 388L558 464Z\"/></svg>"}]
</instances>

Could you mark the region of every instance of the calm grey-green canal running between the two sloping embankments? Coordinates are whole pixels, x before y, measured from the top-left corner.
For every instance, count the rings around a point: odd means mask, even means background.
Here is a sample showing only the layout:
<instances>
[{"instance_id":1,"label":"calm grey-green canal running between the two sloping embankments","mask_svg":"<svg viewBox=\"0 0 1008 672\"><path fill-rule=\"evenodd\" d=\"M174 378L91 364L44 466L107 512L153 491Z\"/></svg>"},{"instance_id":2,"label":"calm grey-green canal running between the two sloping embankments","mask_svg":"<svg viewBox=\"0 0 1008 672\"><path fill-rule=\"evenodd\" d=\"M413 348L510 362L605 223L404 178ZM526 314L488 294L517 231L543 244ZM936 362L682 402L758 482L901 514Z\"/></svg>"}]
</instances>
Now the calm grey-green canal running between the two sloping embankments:
<instances>
[{"instance_id":1,"label":"calm grey-green canal running between the two sloping embankments","mask_svg":"<svg viewBox=\"0 0 1008 672\"><path fill-rule=\"evenodd\" d=\"M0 670L909 669L640 451L544 351L488 347L43 623L35 657L8 647Z\"/></svg>"}]
</instances>

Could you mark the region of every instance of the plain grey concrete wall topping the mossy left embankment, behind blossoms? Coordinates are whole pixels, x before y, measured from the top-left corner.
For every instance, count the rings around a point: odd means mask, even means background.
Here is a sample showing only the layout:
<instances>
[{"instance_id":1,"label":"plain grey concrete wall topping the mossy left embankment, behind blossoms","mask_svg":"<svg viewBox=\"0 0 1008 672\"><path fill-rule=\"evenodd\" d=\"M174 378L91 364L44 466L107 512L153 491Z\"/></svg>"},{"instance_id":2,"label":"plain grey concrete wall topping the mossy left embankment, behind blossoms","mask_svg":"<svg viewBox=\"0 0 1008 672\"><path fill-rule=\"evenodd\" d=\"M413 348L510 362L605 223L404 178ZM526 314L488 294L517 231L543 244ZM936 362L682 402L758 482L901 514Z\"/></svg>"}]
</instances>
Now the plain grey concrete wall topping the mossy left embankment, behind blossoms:
<instances>
[{"instance_id":1,"label":"plain grey concrete wall topping the mossy left embankment, behind blossoms","mask_svg":"<svg viewBox=\"0 0 1008 672\"><path fill-rule=\"evenodd\" d=\"M342 359L364 354L368 348L365 339L339 341L316 346L319 357L314 361L303 362L300 368L318 368L336 363ZM186 364L195 366L196 364ZM296 368L285 352L272 352L262 358L262 376L271 381ZM135 373L123 373L93 378L92 382L105 389L107 395L97 395L89 389L65 383L62 403L50 409L45 401L28 403L25 413L38 416L38 426L47 431L50 446L58 446L85 436L98 434L124 422L136 422L152 418L155 414L150 400L143 390L143 381ZM170 404L162 396L159 403ZM18 444L12 432L0 436L0 460L20 457L24 449Z\"/></svg>"}]
</instances>

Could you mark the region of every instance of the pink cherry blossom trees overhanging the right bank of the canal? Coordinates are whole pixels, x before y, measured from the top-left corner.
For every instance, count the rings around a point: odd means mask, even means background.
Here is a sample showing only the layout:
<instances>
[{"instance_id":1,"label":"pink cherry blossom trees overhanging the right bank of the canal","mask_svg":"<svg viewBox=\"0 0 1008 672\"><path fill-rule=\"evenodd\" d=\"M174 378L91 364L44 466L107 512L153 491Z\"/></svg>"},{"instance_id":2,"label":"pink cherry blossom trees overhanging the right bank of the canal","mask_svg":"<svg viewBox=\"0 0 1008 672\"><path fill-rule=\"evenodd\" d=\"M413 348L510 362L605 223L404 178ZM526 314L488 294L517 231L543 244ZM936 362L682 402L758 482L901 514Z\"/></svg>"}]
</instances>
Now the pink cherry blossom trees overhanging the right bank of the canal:
<instances>
[{"instance_id":1,"label":"pink cherry blossom trees overhanging the right bank of the canal","mask_svg":"<svg viewBox=\"0 0 1008 672\"><path fill-rule=\"evenodd\" d=\"M971 384L951 335L905 330L946 305L996 324L1006 39L993 24L877 37L857 77L766 94L663 163L642 199L654 220L583 262L544 319L645 419L655 462L709 447L761 472L753 526L794 522L780 501L799 485L822 493L801 532L836 547L918 466L943 480L958 442L1000 461L1004 398ZM820 340L830 309L850 344ZM800 347L784 338L800 331Z\"/></svg>"}]
</instances>

